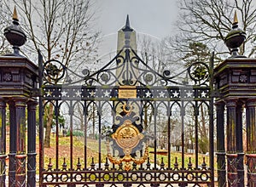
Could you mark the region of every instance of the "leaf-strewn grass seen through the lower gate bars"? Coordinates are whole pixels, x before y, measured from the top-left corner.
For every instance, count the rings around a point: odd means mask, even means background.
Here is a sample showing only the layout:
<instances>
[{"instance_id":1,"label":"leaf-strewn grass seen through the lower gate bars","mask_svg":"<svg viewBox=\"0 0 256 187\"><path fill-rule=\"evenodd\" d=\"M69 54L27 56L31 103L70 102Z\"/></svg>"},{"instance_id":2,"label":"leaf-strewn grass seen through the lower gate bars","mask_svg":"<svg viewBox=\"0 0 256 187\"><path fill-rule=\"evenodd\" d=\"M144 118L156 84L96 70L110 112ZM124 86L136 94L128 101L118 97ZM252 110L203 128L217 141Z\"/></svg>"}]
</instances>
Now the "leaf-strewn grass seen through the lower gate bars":
<instances>
[{"instance_id":1,"label":"leaf-strewn grass seen through the lower gate bars","mask_svg":"<svg viewBox=\"0 0 256 187\"><path fill-rule=\"evenodd\" d=\"M38 140L38 138L37 138ZM50 148L44 148L44 169L48 168L49 165L49 158L51 158L50 163L53 165L53 168L55 168L56 165L56 152L55 152L55 135L53 134L51 136L51 146ZM38 148L38 144L37 144ZM84 161L84 138L83 137L73 137L73 168L76 169L76 166L78 164L78 161L82 165L82 168L86 164L87 167L90 167L92 160L94 163L98 163L98 156L99 156L99 144L98 140L96 139L87 139L87 147L86 147L86 154L87 159L86 163ZM153 152L154 148L149 147L149 152ZM67 168L70 168L70 137L59 137L59 160L58 165L59 168L62 168L62 165L64 163L67 164ZM37 153L39 153L39 150L37 149ZM104 164L106 162L107 157L107 150L106 150L106 144L102 143L102 149L101 149L101 156L102 156L102 163ZM39 156L37 155L37 162L39 161ZM177 158L177 164L178 168L182 167L182 154L180 152L172 152L171 153L171 167L174 168L174 163L176 162ZM184 161L184 167L188 168L189 159L192 163L192 168L195 167L195 154L185 154L185 161ZM201 164L203 163L203 160L205 159L205 162L207 164L207 167L209 167L209 156L204 154L199 154L199 167L201 167ZM154 163L154 154L149 153L149 160L151 163ZM216 164L216 158L214 158L214 163ZM164 162L165 167L168 166L168 156L163 155L157 155L156 163L160 166L161 161ZM108 162L109 163L109 162ZM109 163L110 164L110 163ZM104 167L104 166L102 166ZM216 170L215 166L215 170ZM38 173L38 167L37 167L37 173Z\"/></svg>"}]
</instances>

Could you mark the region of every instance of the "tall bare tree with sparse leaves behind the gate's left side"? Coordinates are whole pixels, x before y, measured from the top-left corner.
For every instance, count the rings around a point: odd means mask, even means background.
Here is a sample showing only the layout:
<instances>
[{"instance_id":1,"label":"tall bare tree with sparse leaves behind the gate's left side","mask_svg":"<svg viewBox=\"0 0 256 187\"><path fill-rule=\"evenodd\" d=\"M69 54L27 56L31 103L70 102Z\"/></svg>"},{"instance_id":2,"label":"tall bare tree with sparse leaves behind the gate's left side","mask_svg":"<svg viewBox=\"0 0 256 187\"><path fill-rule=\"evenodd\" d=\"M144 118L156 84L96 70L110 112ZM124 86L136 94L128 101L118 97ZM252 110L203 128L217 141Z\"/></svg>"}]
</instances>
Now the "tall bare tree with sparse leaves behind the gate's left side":
<instances>
[{"instance_id":1,"label":"tall bare tree with sparse leaves behind the gate's left side","mask_svg":"<svg viewBox=\"0 0 256 187\"><path fill-rule=\"evenodd\" d=\"M21 12L22 28L28 41L24 48L30 57L37 56L40 49L45 60L58 59L63 65L78 68L96 53L98 32L92 31L95 12L90 0L13 0L13 3ZM4 0L4 4L9 2ZM50 104L44 139L46 147L50 146L53 111Z\"/></svg>"}]
</instances>

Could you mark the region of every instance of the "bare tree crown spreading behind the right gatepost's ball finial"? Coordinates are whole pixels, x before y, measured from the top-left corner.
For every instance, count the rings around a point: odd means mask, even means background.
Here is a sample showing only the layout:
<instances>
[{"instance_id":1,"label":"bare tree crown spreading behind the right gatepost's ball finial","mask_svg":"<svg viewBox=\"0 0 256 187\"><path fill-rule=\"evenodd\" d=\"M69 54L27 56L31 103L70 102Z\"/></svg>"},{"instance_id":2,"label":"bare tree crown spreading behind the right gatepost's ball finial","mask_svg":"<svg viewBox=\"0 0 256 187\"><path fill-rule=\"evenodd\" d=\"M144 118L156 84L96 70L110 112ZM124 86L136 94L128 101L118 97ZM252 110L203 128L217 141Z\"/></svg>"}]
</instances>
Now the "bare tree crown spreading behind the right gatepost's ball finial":
<instances>
[{"instance_id":1,"label":"bare tree crown spreading behind the right gatepost's ball finial","mask_svg":"<svg viewBox=\"0 0 256 187\"><path fill-rule=\"evenodd\" d=\"M177 23L179 33L166 38L168 48L176 52L177 59L193 42L202 42L219 57L226 57L223 54L229 51L224 46L224 37L230 31L235 10L241 30L247 32L240 54L248 57L255 54L256 8L253 0L181 0L178 3L181 10Z\"/></svg>"}]
</instances>

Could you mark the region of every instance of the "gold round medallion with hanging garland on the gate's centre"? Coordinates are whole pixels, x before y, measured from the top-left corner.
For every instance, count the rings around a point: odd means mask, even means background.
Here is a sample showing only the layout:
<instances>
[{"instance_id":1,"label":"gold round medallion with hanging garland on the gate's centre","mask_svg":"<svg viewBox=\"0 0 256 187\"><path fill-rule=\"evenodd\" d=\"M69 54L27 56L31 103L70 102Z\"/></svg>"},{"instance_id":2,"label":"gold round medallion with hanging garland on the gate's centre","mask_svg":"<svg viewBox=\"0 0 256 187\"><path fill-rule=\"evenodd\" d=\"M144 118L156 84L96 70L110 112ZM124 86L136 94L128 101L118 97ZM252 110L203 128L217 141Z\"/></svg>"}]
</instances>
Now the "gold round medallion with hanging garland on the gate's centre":
<instances>
[{"instance_id":1,"label":"gold round medallion with hanging garland on the gate's centre","mask_svg":"<svg viewBox=\"0 0 256 187\"><path fill-rule=\"evenodd\" d=\"M125 156L123 158L116 158L110 154L109 142L107 142L107 150L108 150L108 159L113 164L120 164L125 161L125 170L131 170L131 161L135 162L137 165L142 164L148 159L148 145L146 144L146 148L144 154L140 158L133 158L131 156L131 151L133 148L137 146L141 139L144 138L144 135L139 132L137 127L132 125L130 120L125 120L124 124L121 125L115 133L113 133L112 138L115 139L116 143L120 148L123 149Z\"/></svg>"}]
</instances>

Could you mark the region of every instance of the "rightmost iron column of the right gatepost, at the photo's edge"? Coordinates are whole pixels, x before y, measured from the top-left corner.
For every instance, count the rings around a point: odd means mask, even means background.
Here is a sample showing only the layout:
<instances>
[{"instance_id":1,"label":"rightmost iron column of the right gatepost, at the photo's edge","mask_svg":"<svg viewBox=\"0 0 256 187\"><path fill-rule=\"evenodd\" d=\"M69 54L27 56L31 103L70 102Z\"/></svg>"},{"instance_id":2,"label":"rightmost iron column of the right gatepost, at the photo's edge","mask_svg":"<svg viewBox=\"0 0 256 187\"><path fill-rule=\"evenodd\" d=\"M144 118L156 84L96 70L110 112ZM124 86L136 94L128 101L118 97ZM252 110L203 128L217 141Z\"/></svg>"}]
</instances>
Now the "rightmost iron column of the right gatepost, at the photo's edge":
<instances>
[{"instance_id":1,"label":"rightmost iron column of the right gatepost, at the photo's edge","mask_svg":"<svg viewBox=\"0 0 256 187\"><path fill-rule=\"evenodd\" d=\"M247 186L256 186L256 99L247 100Z\"/></svg>"}]
</instances>

